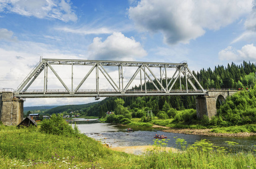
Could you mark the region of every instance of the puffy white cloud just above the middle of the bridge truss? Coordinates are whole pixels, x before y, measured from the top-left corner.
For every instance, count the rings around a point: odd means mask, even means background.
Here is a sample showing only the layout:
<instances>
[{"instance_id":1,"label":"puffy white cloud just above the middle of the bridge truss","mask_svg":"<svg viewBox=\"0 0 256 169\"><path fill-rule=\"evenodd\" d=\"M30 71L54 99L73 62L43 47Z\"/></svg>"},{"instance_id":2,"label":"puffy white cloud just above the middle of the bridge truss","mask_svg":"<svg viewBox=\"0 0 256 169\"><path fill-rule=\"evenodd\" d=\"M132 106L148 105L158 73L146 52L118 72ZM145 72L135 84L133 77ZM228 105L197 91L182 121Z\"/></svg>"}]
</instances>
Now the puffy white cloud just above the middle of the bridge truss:
<instances>
[{"instance_id":1,"label":"puffy white cloud just above the middle of the bridge truss","mask_svg":"<svg viewBox=\"0 0 256 169\"><path fill-rule=\"evenodd\" d=\"M140 42L133 38L125 37L120 32L114 32L105 41L96 37L88 47L89 56L98 60L133 60L146 56L146 51Z\"/></svg>"}]
</instances>

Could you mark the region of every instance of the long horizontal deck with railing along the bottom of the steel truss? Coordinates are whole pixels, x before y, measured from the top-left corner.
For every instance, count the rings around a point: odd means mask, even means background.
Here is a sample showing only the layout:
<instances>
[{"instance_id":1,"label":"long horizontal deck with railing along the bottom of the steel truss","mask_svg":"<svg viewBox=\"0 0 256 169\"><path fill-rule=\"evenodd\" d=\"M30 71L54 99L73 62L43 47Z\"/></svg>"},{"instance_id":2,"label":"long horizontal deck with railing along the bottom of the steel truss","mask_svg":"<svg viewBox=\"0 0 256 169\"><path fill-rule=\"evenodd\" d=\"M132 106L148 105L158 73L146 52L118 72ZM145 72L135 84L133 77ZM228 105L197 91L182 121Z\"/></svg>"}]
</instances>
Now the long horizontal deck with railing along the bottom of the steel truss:
<instances>
[{"instance_id":1,"label":"long horizontal deck with railing along the bottom of the steel truss","mask_svg":"<svg viewBox=\"0 0 256 169\"><path fill-rule=\"evenodd\" d=\"M167 96L167 95L207 95L206 90L127 90L125 92L115 90L78 90L68 92L67 90L27 90L25 92L14 92L15 97L36 98L36 97L111 97L111 96Z\"/></svg>"}]
</instances>

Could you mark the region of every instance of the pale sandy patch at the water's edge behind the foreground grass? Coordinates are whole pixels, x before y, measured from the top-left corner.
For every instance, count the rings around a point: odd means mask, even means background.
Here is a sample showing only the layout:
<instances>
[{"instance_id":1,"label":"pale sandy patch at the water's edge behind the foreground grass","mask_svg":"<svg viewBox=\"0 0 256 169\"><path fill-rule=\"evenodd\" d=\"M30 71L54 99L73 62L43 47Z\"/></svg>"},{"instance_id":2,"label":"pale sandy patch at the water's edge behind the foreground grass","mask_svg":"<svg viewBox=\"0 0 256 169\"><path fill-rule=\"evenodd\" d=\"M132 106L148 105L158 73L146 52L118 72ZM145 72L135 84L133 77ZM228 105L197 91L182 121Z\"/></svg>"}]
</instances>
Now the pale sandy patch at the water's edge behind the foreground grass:
<instances>
[{"instance_id":1,"label":"pale sandy patch at the water's edge behind the foreground grass","mask_svg":"<svg viewBox=\"0 0 256 169\"><path fill-rule=\"evenodd\" d=\"M124 152L124 153L129 153L129 154L142 154L145 153L149 150L155 150L155 151L172 151L172 152L177 152L177 149L175 148L170 148L170 147L156 147L152 145L143 145L143 146L116 146L116 147L110 147L110 149L118 151L118 152Z\"/></svg>"}]
</instances>

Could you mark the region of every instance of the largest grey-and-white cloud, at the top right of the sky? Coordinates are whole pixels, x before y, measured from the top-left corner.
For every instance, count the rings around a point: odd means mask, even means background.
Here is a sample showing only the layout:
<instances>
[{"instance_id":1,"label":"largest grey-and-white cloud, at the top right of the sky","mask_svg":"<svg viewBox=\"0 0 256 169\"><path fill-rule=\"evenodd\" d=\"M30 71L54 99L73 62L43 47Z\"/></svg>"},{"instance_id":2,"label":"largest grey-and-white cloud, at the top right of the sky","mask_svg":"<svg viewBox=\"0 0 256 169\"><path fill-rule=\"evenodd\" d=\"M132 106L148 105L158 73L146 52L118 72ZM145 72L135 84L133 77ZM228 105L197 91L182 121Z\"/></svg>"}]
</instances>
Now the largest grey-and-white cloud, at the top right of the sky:
<instances>
[{"instance_id":1,"label":"largest grey-and-white cloud, at the top right of the sky","mask_svg":"<svg viewBox=\"0 0 256 169\"><path fill-rule=\"evenodd\" d=\"M189 43L218 30L251 11L250 1L141 0L129 8L129 17L141 31L161 32L168 44Z\"/></svg>"}]
</instances>

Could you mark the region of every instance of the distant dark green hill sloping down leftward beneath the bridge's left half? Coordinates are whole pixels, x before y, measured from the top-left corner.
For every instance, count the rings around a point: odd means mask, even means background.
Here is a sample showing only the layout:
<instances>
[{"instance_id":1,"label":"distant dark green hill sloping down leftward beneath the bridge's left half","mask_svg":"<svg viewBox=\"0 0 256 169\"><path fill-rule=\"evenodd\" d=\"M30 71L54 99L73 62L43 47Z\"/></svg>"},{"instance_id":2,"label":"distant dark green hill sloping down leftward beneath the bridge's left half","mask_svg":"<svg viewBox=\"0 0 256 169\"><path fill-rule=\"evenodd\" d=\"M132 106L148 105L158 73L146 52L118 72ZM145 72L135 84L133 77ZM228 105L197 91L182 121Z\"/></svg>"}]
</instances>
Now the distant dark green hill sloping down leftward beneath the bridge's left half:
<instances>
[{"instance_id":1,"label":"distant dark green hill sloping down leftward beneath the bridge's left half","mask_svg":"<svg viewBox=\"0 0 256 169\"><path fill-rule=\"evenodd\" d=\"M88 108L88 106L92 106L99 103L99 101L93 102L93 103L87 103L87 104L79 104L79 105L63 105L63 106L57 106L53 109L47 110L45 114L53 114L53 113L63 113L63 112L75 112L76 110L83 110L85 108Z\"/></svg>"}]
</instances>

